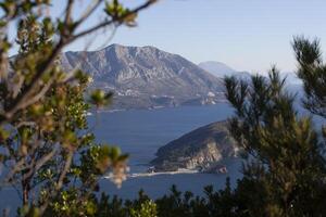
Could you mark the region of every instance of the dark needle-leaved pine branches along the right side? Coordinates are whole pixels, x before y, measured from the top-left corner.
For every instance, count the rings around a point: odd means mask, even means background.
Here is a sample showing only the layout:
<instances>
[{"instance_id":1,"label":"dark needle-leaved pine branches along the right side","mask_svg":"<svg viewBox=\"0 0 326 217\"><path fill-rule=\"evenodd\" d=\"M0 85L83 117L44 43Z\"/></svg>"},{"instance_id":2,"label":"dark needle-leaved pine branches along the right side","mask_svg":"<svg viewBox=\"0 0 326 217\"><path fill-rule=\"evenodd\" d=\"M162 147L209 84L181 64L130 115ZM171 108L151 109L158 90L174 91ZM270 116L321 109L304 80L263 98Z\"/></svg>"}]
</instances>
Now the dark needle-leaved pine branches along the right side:
<instances>
[{"instance_id":1,"label":"dark needle-leaved pine branches along the right side","mask_svg":"<svg viewBox=\"0 0 326 217\"><path fill-rule=\"evenodd\" d=\"M326 72L316 69L322 64L318 42L296 38L293 48L306 93L304 105L323 115ZM248 153L236 191L249 216L323 216L325 143L311 117L298 115L285 79L273 67L267 79L253 76L247 84L230 77L225 86L236 108L229 130Z\"/></svg>"}]
</instances>

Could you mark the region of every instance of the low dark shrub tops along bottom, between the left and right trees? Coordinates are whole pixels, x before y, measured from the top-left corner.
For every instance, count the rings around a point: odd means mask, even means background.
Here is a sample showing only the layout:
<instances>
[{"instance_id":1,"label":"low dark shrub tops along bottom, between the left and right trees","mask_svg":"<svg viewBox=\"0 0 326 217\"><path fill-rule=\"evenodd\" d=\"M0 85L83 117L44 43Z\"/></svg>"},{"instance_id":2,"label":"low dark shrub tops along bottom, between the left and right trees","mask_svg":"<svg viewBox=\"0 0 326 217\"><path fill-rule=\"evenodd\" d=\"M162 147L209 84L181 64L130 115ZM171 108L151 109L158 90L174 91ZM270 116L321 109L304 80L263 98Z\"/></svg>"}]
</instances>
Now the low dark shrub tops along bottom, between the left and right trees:
<instances>
[{"instance_id":1,"label":"low dark shrub tops along bottom, between the left and right trees","mask_svg":"<svg viewBox=\"0 0 326 217\"><path fill-rule=\"evenodd\" d=\"M231 190L229 180L225 190L214 191L206 187L204 196L195 196L191 192L180 192L175 186L171 193L151 201L142 191L133 201L123 201L114 196L112 200L102 194L98 202L96 216L158 216L158 217L225 217L246 216L239 213L239 200L236 192Z\"/></svg>"}]
</instances>

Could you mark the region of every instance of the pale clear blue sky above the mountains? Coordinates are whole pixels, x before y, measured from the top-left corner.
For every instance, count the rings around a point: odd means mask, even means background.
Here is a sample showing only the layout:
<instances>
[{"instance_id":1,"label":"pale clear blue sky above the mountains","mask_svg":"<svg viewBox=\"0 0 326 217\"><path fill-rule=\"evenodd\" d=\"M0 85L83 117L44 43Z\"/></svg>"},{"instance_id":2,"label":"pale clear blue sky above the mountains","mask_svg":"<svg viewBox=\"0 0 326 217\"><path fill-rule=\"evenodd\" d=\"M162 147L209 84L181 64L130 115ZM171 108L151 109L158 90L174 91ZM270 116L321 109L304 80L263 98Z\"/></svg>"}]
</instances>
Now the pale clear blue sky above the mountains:
<instances>
[{"instance_id":1,"label":"pale clear blue sky above the mountains","mask_svg":"<svg viewBox=\"0 0 326 217\"><path fill-rule=\"evenodd\" d=\"M77 1L75 14L88 2ZM62 15L66 1L52 2L52 12ZM123 2L134 7L143 0ZM160 0L139 14L137 27L120 27L110 41L110 31L100 31L65 50L83 50L89 42L88 50L110 43L154 46L195 63L218 61L251 73L267 72L276 64L290 72L296 69L293 36L317 37L326 51L325 9L325 0ZM101 14L99 10L86 26Z\"/></svg>"}]
</instances>

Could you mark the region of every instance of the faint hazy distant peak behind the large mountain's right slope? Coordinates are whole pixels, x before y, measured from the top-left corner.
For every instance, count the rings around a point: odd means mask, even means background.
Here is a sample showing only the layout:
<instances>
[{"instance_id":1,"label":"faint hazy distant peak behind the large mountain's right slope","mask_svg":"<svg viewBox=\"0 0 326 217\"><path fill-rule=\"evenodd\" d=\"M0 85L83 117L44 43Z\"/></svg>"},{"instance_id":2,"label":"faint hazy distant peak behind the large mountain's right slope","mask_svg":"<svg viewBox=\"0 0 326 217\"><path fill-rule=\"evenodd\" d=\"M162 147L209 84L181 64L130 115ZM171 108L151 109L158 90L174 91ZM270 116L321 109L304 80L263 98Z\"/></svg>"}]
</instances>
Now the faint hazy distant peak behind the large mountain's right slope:
<instances>
[{"instance_id":1,"label":"faint hazy distant peak behind the large mountain's right slope","mask_svg":"<svg viewBox=\"0 0 326 217\"><path fill-rule=\"evenodd\" d=\"M236 76L238 78L248 80L251 76L248 72L238 72L221 62L208 61L199 63L198 66L216 76L217 78L224 78L225 76Z\"/></svg>"}]
</instances>

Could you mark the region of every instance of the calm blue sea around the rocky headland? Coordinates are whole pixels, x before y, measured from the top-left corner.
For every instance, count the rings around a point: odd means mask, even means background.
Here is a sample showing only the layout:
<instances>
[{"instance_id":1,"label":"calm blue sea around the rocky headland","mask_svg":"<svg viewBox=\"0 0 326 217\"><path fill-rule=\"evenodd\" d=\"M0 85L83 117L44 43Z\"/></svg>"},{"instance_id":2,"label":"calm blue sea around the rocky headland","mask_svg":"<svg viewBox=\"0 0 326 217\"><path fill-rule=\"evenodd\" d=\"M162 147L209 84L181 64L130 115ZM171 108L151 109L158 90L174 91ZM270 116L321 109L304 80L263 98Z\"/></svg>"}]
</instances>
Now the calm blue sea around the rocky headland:
<instances>
[{"instance_id":1,"label":"calm blue sea around the rocky headland","mask_svg":"<svg viewBox=\"0 0 326 217\"><path fill-rule=\"evenodd\" d=\"M118 145L123 152L129 153L130 173L142 173L160 146L195 128L225 119L230 114L228 105L218 104L152 111L102 112L98 114L96 125L95 116L90 116L89 122L90 127L95 127L99 142ZM123 183L122 189L116 189L110 180L102 179L101 191L133 199L140 189L143 189L150 196L156 197L166 193L172 184L176 184L183 191L191 190L202 194L204 186L214 184L215 188L222 188L227 176L231 177L231 182L240 176L239 161L227 161L225 164L229 170L227 175L185 174L130 178ZM17 203L21 202L15 191L12 189L0 191L0 208L9 205L12 207L12 204ZM15 209L12 207L12 210Z\"/></svg>"}]
</instances>

